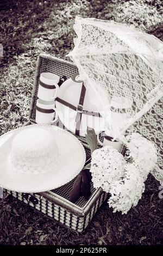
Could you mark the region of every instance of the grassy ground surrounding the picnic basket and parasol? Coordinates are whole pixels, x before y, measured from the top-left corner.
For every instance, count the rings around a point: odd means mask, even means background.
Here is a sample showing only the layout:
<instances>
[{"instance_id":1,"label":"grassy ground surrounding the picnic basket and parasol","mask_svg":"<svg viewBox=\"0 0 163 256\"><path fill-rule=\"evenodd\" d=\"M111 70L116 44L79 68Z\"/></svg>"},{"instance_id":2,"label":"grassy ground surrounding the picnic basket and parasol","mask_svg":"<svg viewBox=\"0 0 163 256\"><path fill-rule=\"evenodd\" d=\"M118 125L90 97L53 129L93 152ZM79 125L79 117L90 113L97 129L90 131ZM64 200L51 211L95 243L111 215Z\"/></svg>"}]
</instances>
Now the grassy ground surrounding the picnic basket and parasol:
<instances>
[{"instance_id":1,"label":"grassy ground surrounding the picnic basket and parasol","mask_svg":"<svg viewBox=\"0 0 163 256\"><path fill-rule=\"evenodd\" d=\"M9 0L0 2L0 135L28 120L39 53L65 56L73 48L76 15L133 24L163 40L162 0ZM162 200L152 175L127 215L105 203L83 234L62 227L12 197L0 201L2 245L160 245Z\"/></svg>"}]
</instances>

